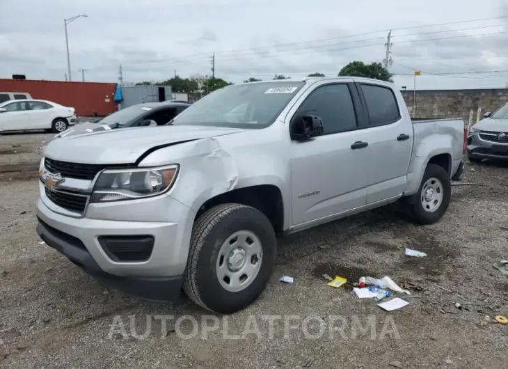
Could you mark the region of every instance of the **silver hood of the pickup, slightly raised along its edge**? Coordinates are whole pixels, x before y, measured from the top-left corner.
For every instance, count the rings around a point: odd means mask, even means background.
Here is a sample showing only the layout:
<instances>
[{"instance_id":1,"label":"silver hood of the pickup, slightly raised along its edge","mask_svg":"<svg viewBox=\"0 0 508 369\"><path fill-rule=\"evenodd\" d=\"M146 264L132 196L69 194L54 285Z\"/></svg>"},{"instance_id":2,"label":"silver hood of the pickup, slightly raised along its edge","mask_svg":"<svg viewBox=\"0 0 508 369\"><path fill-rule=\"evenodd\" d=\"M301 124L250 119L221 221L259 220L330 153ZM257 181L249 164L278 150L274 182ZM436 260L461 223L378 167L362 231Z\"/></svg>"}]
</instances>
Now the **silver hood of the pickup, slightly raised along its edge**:
<instances>
[{"instance_id":1,"label":"silver hood of the pickup, slightly raised along its edge","mask_svg":"<svg viewBox=\"0 0 508 369\"><path fill-rule=\"evenodd\" d=\"M242 130L198 125L106 129L61 136L49 142L45 156L63 162L84 164L132 164L146 151L157 146L207 139Z\"/></svg>"}]
</instances>

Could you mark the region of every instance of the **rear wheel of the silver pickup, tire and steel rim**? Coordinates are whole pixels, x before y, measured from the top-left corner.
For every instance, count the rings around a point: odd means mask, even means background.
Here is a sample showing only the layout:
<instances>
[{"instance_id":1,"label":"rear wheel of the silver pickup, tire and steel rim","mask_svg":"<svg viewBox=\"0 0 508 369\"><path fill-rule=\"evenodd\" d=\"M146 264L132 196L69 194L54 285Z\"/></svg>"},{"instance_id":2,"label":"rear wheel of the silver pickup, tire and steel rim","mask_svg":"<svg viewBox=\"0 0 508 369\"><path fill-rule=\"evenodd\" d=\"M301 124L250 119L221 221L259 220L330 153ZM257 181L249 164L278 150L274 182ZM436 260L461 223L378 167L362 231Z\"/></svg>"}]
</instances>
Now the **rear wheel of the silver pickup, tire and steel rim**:
<instances>
[{"instance_id":1,"label":"rear wheel of the silver pickup, tire and steel rim","mask_svg":"<svg viewBox=\"0 0 508 369\"><path fill-rule=\"evenodd\" d=\"M434 183L432 182L434 180ZM425 188L433 188L433 198L425 198ZM437 190L437 187L440 190ZM441 194L441 196L438 196ZM430 195L430 194L429 194ZM440 197L440 201L438 198ZM445 214L452 198L452 185L450 177L443 167L437 164L429 164L423 174L422 183L418 192L411 196L411 201L404 204L406 214L415 222L420 224L433 224L440 221ZM436 203L437 201L437 203Z\"/></svg>"}]
</instances>

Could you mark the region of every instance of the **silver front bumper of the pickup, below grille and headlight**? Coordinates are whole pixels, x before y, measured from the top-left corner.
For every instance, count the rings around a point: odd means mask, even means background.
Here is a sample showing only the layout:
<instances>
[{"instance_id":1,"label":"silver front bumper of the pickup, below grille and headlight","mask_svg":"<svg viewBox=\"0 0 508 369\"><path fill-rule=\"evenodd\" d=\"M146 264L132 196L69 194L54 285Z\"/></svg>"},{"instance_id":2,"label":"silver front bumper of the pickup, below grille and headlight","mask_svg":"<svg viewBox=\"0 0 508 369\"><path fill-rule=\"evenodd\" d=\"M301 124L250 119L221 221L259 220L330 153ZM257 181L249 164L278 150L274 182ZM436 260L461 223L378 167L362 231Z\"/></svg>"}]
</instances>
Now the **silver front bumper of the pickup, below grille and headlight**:
<instances>
[{"instance_id":1,"label":"silver front bumper of the pickup, below grille and headlight","mask_svg":"<svg viewBox=\"0 0 508 369\"><path fill-rule=\"evenodd\" d=\"M180 289L196 212L161 195L136 201L90 203L84 217L70 217L49 200L42 184L40 188L35 210L37 230L49 246L89 274L131 295L167 301L166 292L172 295L173 290ZM143 260L118 260L104 246L104 238L115 237L144 237L145 242L151 240L152 249ZM164 288L152 290L147 286L150 283Z\"/></svg>"}]
</instances>

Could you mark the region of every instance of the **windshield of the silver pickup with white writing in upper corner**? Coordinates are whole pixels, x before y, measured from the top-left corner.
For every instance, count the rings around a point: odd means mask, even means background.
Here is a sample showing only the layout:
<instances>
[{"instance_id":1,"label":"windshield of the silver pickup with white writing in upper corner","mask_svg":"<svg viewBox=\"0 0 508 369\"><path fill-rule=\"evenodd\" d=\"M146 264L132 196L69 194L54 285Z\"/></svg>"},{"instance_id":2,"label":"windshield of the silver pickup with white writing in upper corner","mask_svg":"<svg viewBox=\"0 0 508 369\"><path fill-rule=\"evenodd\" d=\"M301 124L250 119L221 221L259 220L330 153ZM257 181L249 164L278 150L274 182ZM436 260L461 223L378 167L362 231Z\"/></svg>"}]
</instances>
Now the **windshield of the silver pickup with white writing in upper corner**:
<instances>
[{"instance_id":1,"label":"windshield of the silver pickup with white writing in upper corner","mask_svg":"<svg viewBox=\"0 0 508 369\"><path fill-rule=\"evenodd\" d=\"M173 120L173 125L263 128L271 125L303 82L273 81L232 85L199 100Z\"/></svg>"}]
</instances>

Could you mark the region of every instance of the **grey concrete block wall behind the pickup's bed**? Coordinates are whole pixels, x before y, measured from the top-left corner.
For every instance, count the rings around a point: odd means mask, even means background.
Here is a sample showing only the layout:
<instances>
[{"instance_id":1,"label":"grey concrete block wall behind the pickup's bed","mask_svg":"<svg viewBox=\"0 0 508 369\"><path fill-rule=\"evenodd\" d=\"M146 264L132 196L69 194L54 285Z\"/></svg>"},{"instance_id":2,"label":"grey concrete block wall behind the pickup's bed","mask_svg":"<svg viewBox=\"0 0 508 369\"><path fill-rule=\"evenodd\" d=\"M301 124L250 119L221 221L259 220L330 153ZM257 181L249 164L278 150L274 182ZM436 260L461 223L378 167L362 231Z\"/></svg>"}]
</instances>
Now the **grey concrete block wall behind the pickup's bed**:
<instances>
[{"instance_id":1,"label":"grey concrete block wall behind the pickup's bed","mask_svg":"<svg viewBox=\"0 0 508 369\"><path fill-rule=\"evenodd\" d=\"M413 91L402 91L410 113L413 110ZM470 110L482 108L482 116L487 111L495 111L508 102L508 88L471 90L417 90L415 118L463 118L468 123Z\"/></svg>"}]
</instances>

